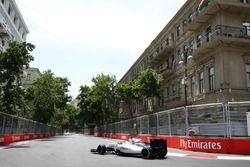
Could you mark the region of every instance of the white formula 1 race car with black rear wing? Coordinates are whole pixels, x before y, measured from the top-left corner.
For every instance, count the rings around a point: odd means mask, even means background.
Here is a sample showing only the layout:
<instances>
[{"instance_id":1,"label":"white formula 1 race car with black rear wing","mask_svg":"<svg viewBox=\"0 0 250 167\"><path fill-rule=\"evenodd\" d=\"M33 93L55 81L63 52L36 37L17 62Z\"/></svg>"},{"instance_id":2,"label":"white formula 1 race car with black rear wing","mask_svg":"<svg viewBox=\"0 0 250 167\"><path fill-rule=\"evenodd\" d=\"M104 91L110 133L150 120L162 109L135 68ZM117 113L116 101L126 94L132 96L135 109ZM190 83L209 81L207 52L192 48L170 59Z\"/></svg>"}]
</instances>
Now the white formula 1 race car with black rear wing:
<instances>
[{"instance_id":1,"label":"white formula 1 race car with black rear wing","mask_svg":"<svg viewBox=\"0 0 250 167\"><path fill-rule=\"evenodd\" d=\"M100 144L96 149L90 151L100 155L108 152L116 155L137 156L143 159L163 159L168 152L165 139L151 139L150 144L146 144L143 140L137 138L131 138L129 141L119 141L110 145Z\"/></svg>"}]
</instances>

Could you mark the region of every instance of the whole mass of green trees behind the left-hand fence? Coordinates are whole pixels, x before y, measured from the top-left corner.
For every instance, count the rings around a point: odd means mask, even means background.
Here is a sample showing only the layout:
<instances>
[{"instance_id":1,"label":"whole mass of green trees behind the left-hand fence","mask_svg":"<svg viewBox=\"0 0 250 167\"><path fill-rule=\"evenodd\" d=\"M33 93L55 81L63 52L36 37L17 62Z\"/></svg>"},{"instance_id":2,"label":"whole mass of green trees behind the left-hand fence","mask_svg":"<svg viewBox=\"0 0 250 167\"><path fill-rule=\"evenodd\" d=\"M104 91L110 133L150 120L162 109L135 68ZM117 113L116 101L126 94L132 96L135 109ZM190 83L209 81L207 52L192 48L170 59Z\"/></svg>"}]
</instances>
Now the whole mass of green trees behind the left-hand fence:
<instances>
[{"instance_id":1,"label":"whole mass of green trees behind the left-hand fence","mask_svg":"<svg viewBox=\"0 0 250 167\"><path fill-rule=\"evenodd\" d=\"M23 71L29 68L34 45L12 41L6 50L0 51L0 109L1 112L50 123L57 127L77 128L79 111L69 105L67 94L70 82L55 77L48 70L32 87L21 87Z\"/></svg>"}]
</instances>

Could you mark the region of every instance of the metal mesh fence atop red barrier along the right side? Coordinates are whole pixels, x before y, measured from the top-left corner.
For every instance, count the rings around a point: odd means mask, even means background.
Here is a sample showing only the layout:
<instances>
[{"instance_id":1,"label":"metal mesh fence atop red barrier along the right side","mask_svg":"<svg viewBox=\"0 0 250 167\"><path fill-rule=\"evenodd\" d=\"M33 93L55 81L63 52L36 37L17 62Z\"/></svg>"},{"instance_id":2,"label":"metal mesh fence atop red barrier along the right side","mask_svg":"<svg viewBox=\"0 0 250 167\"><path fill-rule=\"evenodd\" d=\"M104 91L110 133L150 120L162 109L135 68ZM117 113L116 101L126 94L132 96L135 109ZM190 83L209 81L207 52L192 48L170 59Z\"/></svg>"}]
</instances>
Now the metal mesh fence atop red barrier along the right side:
<instances>
[{"instance_id":1,"label":"metal mesh fence atop red barrier along the right side","mask_svg":"<svg viewBox=\"0 0 250 167\"><path fill-rule=\"evenodd\" d=\"M187 106L96 127L99 134L249 137L250 102ZM90 131L88 128L83 131Z\"/></svg>"}]
</instances>

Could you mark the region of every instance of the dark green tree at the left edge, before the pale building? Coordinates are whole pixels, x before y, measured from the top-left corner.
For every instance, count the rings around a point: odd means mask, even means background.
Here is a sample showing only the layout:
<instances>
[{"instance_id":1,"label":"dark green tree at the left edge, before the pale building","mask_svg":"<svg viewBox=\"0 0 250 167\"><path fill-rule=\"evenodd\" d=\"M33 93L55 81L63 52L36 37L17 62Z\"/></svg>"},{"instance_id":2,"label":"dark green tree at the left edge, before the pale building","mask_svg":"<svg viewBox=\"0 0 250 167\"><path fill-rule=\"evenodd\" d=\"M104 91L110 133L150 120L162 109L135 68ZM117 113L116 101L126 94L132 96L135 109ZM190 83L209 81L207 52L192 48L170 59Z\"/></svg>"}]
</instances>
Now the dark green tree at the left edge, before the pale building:
<instances>
[{"instance_id":1,"label":"dark green tree at the left edge, before the pale building","mask_svg":"<svg viewBox=\"0 0 250 167\"><path fill-rule=\"evenodd\" d=\"M0 51L0 107L3 112L26 115L21 78L34 59L30 54L34 48L31 43L11 41L6 50Z\"/></svg>"}]
</instances>

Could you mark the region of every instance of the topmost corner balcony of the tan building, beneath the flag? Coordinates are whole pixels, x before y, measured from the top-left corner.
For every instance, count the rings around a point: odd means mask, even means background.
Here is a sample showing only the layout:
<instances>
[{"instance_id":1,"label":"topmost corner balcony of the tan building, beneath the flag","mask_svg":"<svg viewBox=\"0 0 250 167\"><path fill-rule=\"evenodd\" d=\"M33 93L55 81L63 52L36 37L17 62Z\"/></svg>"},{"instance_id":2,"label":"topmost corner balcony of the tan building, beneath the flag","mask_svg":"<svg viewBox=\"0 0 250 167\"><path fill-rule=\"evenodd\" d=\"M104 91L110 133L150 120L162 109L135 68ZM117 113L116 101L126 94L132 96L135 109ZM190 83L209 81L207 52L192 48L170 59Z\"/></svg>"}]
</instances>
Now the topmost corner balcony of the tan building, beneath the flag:
<instances>
[{"instance_id":1,"label":"topmost corner balcony of the tan building, beneath the flag","mask_svg":"<svg viewBox=\"0 0 250 167\"><path fill-rule=\"evenodd\" d=\"M250 4L241 3L240 1L230 2L228 0L211 0L207 7L203 8L200 12L195 11L192 14L192 17L188 20L189 24L187 25L187 31L198 31L201 26L214 17L219 10L250 14Z\"/></svg>"}]
</instances>

